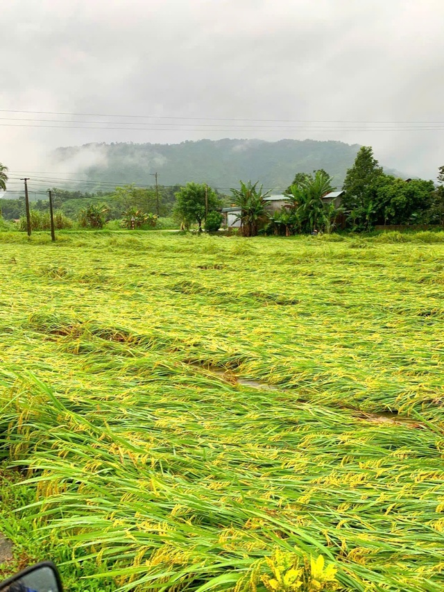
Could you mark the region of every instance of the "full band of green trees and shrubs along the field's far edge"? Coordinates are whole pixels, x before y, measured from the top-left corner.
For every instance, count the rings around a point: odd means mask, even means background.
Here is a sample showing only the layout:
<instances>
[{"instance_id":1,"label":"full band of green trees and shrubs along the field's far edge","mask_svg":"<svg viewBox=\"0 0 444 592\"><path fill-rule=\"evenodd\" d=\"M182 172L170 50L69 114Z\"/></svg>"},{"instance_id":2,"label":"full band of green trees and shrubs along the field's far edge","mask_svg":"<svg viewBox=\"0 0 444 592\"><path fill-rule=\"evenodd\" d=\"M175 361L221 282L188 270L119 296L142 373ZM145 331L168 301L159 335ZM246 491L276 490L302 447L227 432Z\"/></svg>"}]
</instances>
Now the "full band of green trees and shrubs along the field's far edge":
<instances>
[{"instance_id":1,"label":"full band of green trees and shrubs along the field's far edge","mask_svg":"<svg viewBox=\"0 0 444 592\"><path fill-rule=\"evenodd\" d=\"M0 189L6 189L8 169L0 164ZM324 169L312 173L298 172L284 192L286 205L270 212L259 182L244 183L223 195L205 183L187 183L185 187L153 187L125 185L112 192L94 194L53 188L53 203L63 228L70 219L80 226L102 228L106 221L119 219L126 228L155 226L159 211L175 217L181 228L196 224L201 230L218 230L223 218L223 205L237 208L240 232L255 236L259 232L291 235L310 232L332 232L339 226L355 232L370 231L377 225L409 225L416 223L444 225L444 166L438 171L438 185L431 180L403 180L384 173L370 146L359 149L354 164L343 183L343 196L337 207L325 196L334 191L332 176ZM24 198L1 200L5 219L24 214ZM46 223L47 200L33 202L33 219ZM40 214L39 214L40 212ZM64 220L66 220L64 222Z\"/></svg>"}]
</instances>

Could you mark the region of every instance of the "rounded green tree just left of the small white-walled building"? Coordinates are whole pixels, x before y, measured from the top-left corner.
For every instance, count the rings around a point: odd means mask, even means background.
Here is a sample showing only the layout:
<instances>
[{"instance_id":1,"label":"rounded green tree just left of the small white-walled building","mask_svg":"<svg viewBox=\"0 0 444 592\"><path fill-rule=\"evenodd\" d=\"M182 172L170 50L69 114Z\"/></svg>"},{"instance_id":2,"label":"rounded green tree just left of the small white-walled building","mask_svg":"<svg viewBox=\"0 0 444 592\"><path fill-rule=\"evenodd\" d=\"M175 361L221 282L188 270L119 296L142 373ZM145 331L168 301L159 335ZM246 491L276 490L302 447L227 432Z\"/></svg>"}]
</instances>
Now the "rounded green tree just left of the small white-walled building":
<instances>
[{"instance_id":1,"label":"rounded green tree just left of the small white-walled building","mask_svg":"<svg viewBox=\"0 0 444 592\"><path fill-rule=\"evenodd\" d=\"M185 187L180 187L176 193L174 211L185 226L197 222L201 232L202 223L205 220L206 205L208 212L220 207L221 203L214 189L205 183L187 183Z\"/></svg>"}]
</instances>

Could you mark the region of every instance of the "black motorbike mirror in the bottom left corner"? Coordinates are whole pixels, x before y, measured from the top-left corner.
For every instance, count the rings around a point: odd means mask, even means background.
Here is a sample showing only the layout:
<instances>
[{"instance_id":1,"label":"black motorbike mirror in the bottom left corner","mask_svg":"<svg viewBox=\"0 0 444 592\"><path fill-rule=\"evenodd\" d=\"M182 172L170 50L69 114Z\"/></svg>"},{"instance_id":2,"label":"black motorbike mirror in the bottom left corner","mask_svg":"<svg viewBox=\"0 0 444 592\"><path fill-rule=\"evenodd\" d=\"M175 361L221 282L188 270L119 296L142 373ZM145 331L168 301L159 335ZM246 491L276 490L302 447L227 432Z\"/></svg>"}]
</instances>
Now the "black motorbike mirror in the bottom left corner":
<instances>
[{"instance_id":1,"label":"black motorbike mirror in the bottom left corner","mask_svg":"<svg viewBox=\"0 0 444 592\"><path fill-rule=\"evenodd\" d=\"M0 592L63 592L62 580L51 561L43 561L0 582Z\"/></svg>"}]
</instances>

